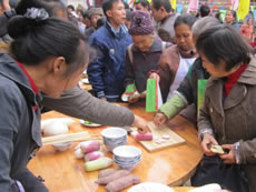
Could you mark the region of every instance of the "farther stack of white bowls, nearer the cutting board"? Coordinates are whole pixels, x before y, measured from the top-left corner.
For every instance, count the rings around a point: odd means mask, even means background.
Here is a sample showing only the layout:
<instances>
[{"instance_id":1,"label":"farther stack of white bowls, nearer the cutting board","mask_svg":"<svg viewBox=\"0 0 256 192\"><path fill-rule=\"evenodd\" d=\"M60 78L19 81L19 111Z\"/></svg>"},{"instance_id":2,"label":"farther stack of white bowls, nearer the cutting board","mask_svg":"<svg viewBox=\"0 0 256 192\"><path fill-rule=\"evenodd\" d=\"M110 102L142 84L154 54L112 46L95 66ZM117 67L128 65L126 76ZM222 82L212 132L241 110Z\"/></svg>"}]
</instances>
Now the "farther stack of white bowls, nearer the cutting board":
<instances>
[{"instance_id":1,"label":"farther stack of white bowls, nearer the cutting board","mask_svg":"<svg viewBox=\"0 0 256 192\"><path fill-rule=\"evenodd\" d=\"M101 131L104 144L112 151L116 146L124 145L127 142L127 131L121 128L107 128Z\"/></svg>"}]
</instances>

